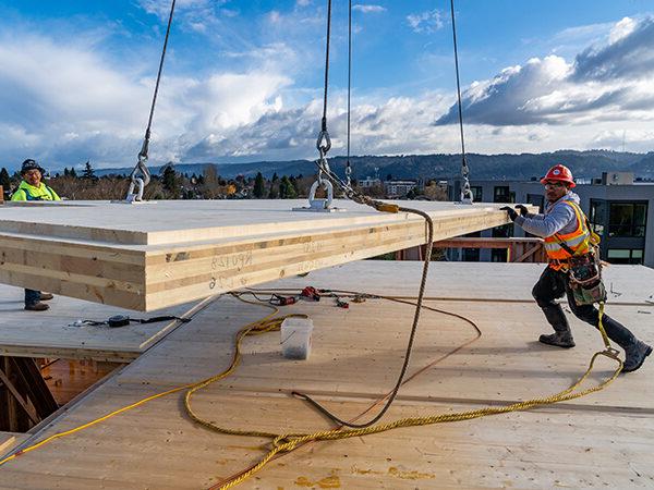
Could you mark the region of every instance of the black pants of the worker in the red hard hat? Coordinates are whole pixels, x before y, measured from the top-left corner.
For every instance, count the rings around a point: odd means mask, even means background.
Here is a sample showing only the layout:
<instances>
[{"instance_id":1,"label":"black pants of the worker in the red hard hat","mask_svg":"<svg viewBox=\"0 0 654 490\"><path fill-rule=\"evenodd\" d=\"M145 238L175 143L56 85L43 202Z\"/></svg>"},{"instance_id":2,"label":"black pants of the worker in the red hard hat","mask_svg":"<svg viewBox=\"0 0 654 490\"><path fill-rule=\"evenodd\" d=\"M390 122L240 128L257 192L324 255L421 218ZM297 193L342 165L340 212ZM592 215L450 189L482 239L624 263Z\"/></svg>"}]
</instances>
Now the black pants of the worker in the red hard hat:
<instances>
[{"instance_id":1,"label":"black pants of the worker in the red hard hat","mask_svg":"<svg viewBox=\"0 0 654 490\"><path fill-rule=\"evenodd\" d=\"M577 318L595 328L597 328L597 324L600 323L600 311L597 311L597 308L593 305L579 306L574 302L567 272L557 271L547 267L541 274L538 282L534 285L532 295L541 309L543 309L549 324L557 332L570 331L570 324L568 323L566 314L561 306L555 301L564 297L564 295L568 296L568 304ZM609 316L604 315L602 324L604 326L604 330L606 330L608 338L620 347L627 348L635 343L637 339L633 336L633 333Z\"/></svg>"}]
</instances>

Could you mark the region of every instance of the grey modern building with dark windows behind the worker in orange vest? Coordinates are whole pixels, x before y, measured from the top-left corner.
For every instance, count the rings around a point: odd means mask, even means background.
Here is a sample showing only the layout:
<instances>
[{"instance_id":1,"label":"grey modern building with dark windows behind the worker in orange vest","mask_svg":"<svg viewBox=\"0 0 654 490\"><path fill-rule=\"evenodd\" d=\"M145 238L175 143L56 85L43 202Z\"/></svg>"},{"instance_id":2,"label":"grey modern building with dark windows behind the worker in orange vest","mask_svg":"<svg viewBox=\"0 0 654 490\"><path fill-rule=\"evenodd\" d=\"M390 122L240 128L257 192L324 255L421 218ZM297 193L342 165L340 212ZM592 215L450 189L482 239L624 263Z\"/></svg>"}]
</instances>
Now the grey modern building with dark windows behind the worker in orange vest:
<instances>
[{"instance_id":1,"label":"grey modern building with dark windows behind the worker in orange vest","mask_svg":"<svg viewBox=\"0 0 654 490\"><path fill-rule=\"evenodd\" d=\"M475 203L545 205L537 179L525 181L471 181ZM450 181L449 198L459 200L460 180ZM591 226L602 236L602 258L613 264L642 264L654 268L654 182L638 182L633 174L605 172L602 179L578 184L574 192ZM506 225L476 236L529 236L520 226ZM450 260L504 261L506 250L450 250Z\"/></svg>"}]
</instances>

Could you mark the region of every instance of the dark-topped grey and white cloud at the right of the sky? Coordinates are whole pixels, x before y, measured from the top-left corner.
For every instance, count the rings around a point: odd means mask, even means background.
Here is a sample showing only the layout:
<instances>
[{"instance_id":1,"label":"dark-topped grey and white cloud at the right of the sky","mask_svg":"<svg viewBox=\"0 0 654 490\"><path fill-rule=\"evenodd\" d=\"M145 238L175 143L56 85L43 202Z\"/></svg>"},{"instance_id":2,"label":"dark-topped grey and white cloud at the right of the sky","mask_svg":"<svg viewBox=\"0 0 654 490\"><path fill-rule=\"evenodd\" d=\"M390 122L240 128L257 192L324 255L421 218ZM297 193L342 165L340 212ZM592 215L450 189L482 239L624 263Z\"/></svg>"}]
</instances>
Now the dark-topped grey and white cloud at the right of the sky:
<instances>
[{"instance_id":1,"label":"dark-topped grey and white cloud at the right of the sky","mask_svg":"<svg viewBox=\"0 0 654 490\"><path fill-rule=\"evenodd\" d=\"M654 19L625 19L607 37L573 62L554 54L534 58L473 83L462 95L465 122L502 126L652 120ZM457 120L452 105L436 124Z\"/></svg>"}]
</instances>

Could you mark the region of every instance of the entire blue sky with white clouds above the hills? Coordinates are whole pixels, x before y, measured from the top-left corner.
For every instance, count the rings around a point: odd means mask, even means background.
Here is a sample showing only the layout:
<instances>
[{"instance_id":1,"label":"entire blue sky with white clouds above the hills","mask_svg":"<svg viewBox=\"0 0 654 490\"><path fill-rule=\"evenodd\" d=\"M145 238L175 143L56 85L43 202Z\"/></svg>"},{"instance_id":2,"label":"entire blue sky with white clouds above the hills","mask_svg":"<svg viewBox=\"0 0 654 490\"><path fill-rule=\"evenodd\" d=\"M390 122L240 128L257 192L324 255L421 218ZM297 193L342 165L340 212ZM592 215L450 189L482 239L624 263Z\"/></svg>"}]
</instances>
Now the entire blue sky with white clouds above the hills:
<instances>
[{"instance_id":1,"label":"entire blue sky with white clouds above the hills","mask_svg":"<svg viewBox=\"0 0 654 490\"><path fill-rule=\"evenodd\" d=\"M352 151L456 152L448 1L354 3ZM458 0L467 147L654 149L650 1ZM168 0L0 0L0 166L131 167ZM150 161L315 157L326 1L178 0ZM652 10L650 10L652 9ZM344 152L347 2L329 126Z\"/></svg>"}]
</instances>

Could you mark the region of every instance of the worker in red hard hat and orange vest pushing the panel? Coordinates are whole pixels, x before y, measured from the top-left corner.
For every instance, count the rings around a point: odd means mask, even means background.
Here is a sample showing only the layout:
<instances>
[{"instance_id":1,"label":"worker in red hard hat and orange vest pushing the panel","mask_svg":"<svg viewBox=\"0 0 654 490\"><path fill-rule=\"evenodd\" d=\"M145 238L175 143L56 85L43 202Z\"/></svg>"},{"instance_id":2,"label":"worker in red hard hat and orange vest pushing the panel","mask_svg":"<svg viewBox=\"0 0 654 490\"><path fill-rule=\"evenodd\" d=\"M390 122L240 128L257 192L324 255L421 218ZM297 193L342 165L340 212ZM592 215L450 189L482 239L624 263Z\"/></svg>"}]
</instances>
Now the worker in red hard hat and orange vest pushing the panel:
<instances>
[{"instance_id":1,"label":"worker in red hard hat and orange vest pushing the panel","mask_svg":"<svg viewBox=\"0 0 654 490\"><path fill-rule=\"evenodd\" d=\"M570 169L556 164L541 179L541 183L545 185L547 199L545 213L531 215L524 206L517 206L520 215L508 206L502 209L524 231L545 238L548 265L532 294L554 333L543 334L538 341L570 348L574 347L570 324L556 299L566 295L572 313L598 328L600 311L593 303L603 303L606 297L600 275L600 237L591 230L579 205L579 196L571 191L574 180ZM590 279L596 279L580 282L581 272L589 274ZM602 316L602 324L608 338L625 350L622 371L639 369L652 353L652 347L607 315Z\"/></svg>"}]
</instances>

